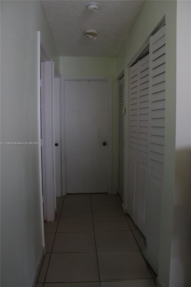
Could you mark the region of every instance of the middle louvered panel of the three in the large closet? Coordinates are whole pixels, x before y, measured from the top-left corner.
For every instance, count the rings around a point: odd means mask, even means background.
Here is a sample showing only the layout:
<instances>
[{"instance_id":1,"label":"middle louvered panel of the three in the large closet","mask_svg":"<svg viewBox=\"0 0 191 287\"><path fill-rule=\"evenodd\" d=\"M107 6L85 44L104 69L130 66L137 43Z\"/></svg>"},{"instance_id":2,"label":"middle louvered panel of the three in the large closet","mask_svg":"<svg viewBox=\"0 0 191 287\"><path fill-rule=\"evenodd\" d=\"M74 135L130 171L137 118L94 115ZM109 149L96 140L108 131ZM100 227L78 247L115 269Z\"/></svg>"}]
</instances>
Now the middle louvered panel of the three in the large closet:
<instances>
[{"instance_id":1,"label":"middle louvered panel of the three in the large closet","mask_svg":"<svg viewBox=\"0 0 191 287\"><path fill-rule=\"evenodd\" d=\"M138 188L136 225L146 236L146 207L149 163L149 54L139 62Z\"/></svg>"}]
</instances>

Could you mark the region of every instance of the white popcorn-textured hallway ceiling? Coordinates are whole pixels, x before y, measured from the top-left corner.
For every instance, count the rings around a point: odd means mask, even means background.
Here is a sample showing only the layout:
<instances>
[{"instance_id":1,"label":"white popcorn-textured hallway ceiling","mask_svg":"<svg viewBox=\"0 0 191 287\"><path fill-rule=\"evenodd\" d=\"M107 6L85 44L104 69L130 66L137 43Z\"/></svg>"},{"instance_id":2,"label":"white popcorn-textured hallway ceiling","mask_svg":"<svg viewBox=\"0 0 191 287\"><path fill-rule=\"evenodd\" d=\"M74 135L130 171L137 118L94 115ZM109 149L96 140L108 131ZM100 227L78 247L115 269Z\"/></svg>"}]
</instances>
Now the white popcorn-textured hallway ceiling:
<instances>
[{"instance_id":1,"label":"white popcorn-textured hallway ceiling","mask_svg":"<svg viewBox=\"0 0 191 287\"><path fill-rule=\"evenodd\" d=\"M97 1L98 12L87 10L90 1L41 1L60 56L117 56L144 1ZM98 30L97 40L84 30Z\"/></svg>"}]
</instances>

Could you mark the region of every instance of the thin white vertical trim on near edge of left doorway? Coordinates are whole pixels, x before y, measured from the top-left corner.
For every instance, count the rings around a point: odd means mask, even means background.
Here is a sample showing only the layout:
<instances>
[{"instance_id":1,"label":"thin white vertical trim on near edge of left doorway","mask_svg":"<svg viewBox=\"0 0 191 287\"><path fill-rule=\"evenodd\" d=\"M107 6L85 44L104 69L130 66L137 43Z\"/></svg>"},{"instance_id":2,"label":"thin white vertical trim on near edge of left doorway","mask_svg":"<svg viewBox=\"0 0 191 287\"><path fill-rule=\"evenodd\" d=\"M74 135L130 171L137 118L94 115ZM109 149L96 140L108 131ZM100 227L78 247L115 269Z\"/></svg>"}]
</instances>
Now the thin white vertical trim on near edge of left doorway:
<instances>
[{"instance_id":1,"label":"thin white vertical trim on near edge of left doorway","mask_svg":"<svg viewBox=\"0 0 191 287\"><path fill-rule=\"evenodd\" d=\"M43 199L42 199L42 159L41 159L41 68L40 68L40 31L37 31L38 43L38 153L39 153L39 181L40 181L40 204L41 204L41 231L42 231L42 246L44 243L44 215L43 215ZM45 250L45 249L44 249Z\"/></svg>"}]
</instances>

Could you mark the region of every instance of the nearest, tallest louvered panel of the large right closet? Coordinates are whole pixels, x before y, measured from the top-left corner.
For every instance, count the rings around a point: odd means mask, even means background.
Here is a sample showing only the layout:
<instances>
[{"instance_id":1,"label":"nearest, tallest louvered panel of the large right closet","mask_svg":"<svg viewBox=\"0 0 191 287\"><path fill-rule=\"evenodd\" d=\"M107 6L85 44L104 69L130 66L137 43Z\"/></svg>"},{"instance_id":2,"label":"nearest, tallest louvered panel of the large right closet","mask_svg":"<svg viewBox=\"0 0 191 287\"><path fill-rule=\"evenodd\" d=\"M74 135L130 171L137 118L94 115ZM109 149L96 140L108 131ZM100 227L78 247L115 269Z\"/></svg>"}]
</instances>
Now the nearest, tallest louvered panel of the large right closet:
<instances>
[{"instance_id":1,"label":"nearest, tallest louvered panel of the large right closet","mask_svg":"<svg viewBox=\"0 0 191 287\"><path fill-rule=\"evenodd\" d=\"M150 38L150 175L147 247L158 261L164 165L165 26Z\"/></svg>"}]
</instances>

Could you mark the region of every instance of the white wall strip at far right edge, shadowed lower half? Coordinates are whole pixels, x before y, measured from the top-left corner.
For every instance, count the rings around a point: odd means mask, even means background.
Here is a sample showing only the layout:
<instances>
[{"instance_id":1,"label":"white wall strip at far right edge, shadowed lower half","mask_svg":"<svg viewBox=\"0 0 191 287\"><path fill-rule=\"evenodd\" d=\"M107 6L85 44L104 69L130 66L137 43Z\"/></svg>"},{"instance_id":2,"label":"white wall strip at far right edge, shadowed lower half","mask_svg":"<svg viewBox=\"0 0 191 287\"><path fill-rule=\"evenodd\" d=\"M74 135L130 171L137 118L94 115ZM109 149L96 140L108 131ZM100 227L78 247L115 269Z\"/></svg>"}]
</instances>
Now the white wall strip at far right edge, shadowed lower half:
<instances>
[{"instance_id":1,"label":"white wall strip at far right edge, shadowed lower half","mask_svg":"<svg viewBox=\"0 0 191 287\"><path fill-rule=\"evenodd\" d=\"M170 286L191 286L191 2L177 1L175 192Z\"/></svg>"}]
</instances>

